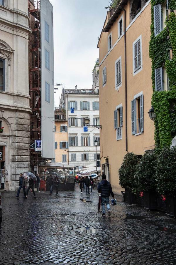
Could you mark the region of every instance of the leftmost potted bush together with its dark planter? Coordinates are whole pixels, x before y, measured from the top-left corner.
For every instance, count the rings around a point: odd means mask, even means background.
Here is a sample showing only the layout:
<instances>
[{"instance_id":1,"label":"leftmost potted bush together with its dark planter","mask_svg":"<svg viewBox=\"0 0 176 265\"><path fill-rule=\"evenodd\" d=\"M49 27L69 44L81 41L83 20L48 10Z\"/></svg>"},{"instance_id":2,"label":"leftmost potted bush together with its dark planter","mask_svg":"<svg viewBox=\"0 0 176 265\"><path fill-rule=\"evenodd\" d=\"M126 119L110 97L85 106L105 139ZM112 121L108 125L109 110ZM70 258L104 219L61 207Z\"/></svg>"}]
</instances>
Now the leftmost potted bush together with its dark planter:
<instances>
[{"instance_id":1,"label":"leftmost potted bush together with its dark planter","mask_svg":"<svg viewBox=\"0 0 176 265\"><path fill-rule=\"evenodd\" d=\"M119 168L119 184L125 189L125 201L128 204L136 204L136 194L133 190L136 188L134 175L139 158L133 152L128 153L123 158L123 163Z\"/></svg>"}]
</instances>

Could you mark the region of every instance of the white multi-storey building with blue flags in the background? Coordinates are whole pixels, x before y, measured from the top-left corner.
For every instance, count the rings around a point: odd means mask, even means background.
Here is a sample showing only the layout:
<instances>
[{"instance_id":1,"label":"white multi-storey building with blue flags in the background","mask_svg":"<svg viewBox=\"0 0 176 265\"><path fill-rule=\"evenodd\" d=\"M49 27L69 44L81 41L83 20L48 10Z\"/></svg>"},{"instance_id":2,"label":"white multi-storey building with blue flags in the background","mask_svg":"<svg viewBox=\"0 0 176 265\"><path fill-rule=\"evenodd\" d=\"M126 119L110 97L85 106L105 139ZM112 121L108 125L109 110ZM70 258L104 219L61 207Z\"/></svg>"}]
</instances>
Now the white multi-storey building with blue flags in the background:
<instances>
[{"instance_id":1,"label":"white multi-storey building with blue flags in the background","mask_svg":"<svg viewBox=\"0 0 176 265\"><path fill-rule=\"evenodd\" d=\"M99 94L90 89L62 90L61 102L65 103L68 119L68 164L86 167L96 163L94 140L98 140L97 160L100 158L100 130L91 125L99 125ZM74 108L74 113L71 113ZM84 131L84 118L89 117L88 131ZM60 142L62 148L62 142Z\"/></svg>"}]
</instances>

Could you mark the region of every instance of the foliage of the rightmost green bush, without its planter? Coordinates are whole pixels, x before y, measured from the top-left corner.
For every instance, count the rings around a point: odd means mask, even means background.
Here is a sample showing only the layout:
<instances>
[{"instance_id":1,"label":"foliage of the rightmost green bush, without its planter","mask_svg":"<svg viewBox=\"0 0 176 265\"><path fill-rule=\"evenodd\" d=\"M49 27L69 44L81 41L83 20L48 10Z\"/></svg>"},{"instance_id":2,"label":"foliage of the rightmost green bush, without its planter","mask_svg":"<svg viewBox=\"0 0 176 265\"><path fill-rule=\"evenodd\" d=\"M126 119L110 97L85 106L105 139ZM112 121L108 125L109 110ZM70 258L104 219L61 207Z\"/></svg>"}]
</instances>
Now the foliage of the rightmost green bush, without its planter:
<instances>
[{"instance_id":1,"label":"foliage of the rightmost green bush, without its planter","mask_svg":"<svg viewBox=\"0 0 176 265\"><path fill-rule=\"evenodd\" d=\"M157 191L176 196L176 147L164 149L156 161Z\"/></svg>"}]
</instances>

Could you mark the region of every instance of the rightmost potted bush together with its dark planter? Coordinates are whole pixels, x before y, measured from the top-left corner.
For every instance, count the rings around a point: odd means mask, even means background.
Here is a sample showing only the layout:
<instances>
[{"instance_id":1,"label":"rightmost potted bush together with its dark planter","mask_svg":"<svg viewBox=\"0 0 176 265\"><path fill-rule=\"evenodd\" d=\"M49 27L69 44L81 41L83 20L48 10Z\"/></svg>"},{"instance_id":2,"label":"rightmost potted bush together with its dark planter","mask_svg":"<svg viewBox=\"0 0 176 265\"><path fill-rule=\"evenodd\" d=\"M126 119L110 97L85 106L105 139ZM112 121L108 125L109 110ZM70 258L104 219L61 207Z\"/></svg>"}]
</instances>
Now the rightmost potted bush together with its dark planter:
<instances>
[{"instance_id":1,"label":"rightmost potted bush together with its dark planter","mask_svg":"<svg viewBox=\"0 0 176 265\"><path fill-rule=\"evenodd\" d=\"M166 203L167 215L176 217L176 147L164 149L156 163L157 190Z\"/></svg>"}]
</instances>

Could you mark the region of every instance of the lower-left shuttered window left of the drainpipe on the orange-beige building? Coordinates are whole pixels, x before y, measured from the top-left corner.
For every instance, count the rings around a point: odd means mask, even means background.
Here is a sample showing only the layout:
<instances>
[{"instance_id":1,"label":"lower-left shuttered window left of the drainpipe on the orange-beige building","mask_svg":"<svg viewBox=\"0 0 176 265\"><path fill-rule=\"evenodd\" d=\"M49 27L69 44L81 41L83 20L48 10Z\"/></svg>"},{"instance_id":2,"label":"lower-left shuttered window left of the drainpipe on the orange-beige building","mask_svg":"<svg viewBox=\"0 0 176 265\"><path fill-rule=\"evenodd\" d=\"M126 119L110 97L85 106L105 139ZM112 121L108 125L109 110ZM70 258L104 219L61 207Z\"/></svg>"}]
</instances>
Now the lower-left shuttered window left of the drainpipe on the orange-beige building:
<instances>
[{"instance_id":1,"label":"lower-left shuttered window left of the drainpipe on the orange-beige building","mask_svg":"<svg viewBox=\"0 0 176 265\"><path fill-rule=\"evenodd\" d=\"M123 126L123 107L118 105L114 110L114 129L116 129L116 139L122 139L122 126Z\"/></svg>"}]
</instances>

